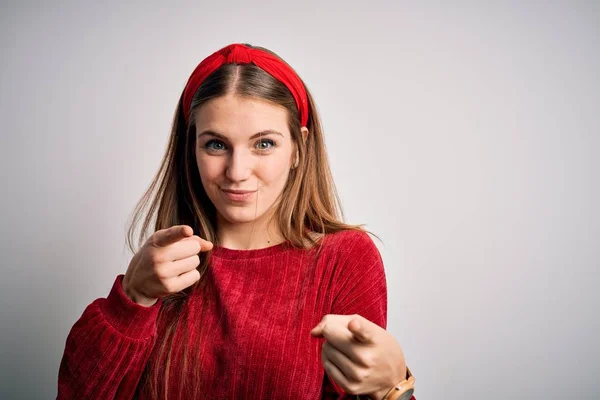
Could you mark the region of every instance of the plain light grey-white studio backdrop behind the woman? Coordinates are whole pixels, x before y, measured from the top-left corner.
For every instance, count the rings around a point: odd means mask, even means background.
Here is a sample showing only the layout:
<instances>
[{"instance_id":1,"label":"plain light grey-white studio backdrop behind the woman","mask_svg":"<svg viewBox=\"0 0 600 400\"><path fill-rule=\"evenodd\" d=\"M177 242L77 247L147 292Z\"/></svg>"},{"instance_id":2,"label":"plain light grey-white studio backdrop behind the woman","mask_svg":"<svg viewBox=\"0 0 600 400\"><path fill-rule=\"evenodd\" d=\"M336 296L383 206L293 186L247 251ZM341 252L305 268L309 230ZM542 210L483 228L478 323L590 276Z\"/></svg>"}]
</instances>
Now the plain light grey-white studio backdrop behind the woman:
<instances>
[{"instance_id":1,"label":"plain light grey-white studio backdrop behind the woman","mask_svg":"<svg viewBox=\"0 0 600 400\"><path fill-rule=\"evenodd\" d=\"M56 396L185 82L232 42L312 90L419 400L599 398L600 7L492 3L3 2L0 398Z\"/></svg>"}]
</instances>

